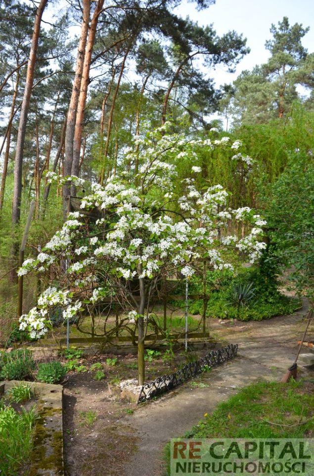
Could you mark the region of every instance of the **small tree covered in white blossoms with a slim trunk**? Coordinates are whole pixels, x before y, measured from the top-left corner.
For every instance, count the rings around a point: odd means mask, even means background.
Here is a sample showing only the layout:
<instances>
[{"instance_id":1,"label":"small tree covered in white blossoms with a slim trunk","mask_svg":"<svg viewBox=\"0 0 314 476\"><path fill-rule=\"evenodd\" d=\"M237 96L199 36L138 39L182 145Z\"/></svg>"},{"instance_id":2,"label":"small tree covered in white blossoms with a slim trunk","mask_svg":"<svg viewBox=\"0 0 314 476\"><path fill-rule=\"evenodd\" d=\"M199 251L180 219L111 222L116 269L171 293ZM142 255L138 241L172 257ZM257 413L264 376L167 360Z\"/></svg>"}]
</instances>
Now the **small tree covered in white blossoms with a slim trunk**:
<instances>
[{"instance_id":1,"label":"small tree covered in white blossoms with a slim trunk","mask_svg":"<svg viewBox=\"0 0 314 476\"><path fill-rule=\"evenodd\" d=\"M81 211L70 213L43 251L27 259L19 270L19 275L30 270L45 273L60 260L69 263L60 287L47 288L37 306L21 316L20 328L32 337L45 336L55 306L62 307L64 319L69 319L110 297L118 300L137 329L139 385L144 383L148 316L160 280L178 271L190 276L204 259L215 269L230 268L223 258L228 246L247 252L250 261L264 247L259 238L265 222L259 215L247 207L229 209L228 194L221 185L205 190L195 185L193 176L201 172L198 148L225 147L226 138L213 144L210 139L189 140L163 132L148 133L145 139L136 137L136 152L127 151L130 164L140 154L141 165L133 182L128 174L120 174L104 186L92 185L90 194L82 199ZM240 146L236 141L228 147L232 151ZM192 178L178 188L176 167L181 160L190 162ZM91 222L85 212L95 208L100 218ZM228 234L232 221L250 224L245 237Z\"/></svg>"}]
</instances>

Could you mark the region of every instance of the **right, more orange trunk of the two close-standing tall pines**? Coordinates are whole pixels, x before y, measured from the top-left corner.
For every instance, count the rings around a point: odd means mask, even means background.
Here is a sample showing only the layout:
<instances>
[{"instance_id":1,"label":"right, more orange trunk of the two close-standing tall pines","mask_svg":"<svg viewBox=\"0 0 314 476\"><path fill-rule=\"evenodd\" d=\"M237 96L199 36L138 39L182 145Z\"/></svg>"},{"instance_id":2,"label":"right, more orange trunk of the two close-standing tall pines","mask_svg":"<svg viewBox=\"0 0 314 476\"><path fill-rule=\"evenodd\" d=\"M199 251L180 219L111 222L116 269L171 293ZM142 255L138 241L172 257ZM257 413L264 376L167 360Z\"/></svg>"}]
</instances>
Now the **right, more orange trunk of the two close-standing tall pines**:
<instances>
[{"instance_id":1,"label":"right, more orange trunk of the two close-standing tall pines","mask_svg":"<svg viewBox=\"0 0 314 476\"><path fill-rule=\"evenodd\" d=\"M82 71L82 80L80 95L78 100L78 107L75 120L75 129L74 129L74 138L73 138L73 161L71 167L71 175L78 177L80 171L80 155L81 155L81 145L82 145L82 133L83 133L83 122L84 122L84 110L86 106L87 90L89 86L90 79L90 62L91 54L94 47L96 27L98 23L98 17L101 12L104 0L98 0L95 11L92 15L90 22L90 32L86 44L86 51L84 55L84 64ZM74 184L71 185L71 194L76 195L76 187Z\"/></svg>"}]
</instances>

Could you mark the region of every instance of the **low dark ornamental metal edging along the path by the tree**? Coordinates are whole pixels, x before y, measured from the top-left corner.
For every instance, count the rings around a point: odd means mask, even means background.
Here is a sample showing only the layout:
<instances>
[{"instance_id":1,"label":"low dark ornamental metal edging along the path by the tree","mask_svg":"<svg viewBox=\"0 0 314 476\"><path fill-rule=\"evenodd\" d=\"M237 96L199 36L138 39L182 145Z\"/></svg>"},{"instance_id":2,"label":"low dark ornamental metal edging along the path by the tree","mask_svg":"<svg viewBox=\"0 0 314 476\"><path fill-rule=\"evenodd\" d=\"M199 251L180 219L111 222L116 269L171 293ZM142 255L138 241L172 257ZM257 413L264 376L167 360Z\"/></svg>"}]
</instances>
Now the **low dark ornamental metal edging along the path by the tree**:
<instances>
[{"instance_id":1,"label":"low dark ornamental metal edging along the path by the tree","mask_svg":"<svg viewBox=\"0 0 314 476\"><path fill-rule=\"evenodd\" d=\"M153 382L142 386L137 404L146 402L153 397L171 391L175 387L181 385L185 380L201 373L205 366L214 367L215 365L224 363L226 360L236 357L237 352L238 345L229 344L224 349L209 352L205 357L196 360L196 362L187 363L184 367L173 374L163 375L162 377L156 378Z\"/></svg>"}]
</instances>

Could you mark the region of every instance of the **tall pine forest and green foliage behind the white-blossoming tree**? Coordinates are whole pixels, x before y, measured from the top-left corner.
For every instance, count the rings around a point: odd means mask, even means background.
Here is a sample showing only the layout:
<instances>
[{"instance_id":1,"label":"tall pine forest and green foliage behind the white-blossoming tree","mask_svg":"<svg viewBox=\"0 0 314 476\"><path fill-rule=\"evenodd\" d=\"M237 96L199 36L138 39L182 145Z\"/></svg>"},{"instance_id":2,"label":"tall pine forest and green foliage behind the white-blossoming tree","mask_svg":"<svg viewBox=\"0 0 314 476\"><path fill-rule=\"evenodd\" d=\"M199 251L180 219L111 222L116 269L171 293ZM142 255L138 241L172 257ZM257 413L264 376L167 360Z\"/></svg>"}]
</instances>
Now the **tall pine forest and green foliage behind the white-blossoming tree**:
<instances>
[{"instance_id":1,"label":"tall pine forest and green foliage behind the white-blossoming tree","mask_svg":"<svg viewBox=\"0 0 314 476\"><path fill-rule=\"evenodd\" d=\"M293 267L297 290L311 294L309 28L290 24L283 12L269 25L265 62L217 86L222 68L241 68L250 45L241 32L218 35L215 25L203 27L176 13L190 7L182 10L176 0L0 2L2 342L16 322L16 270L31 201L36 210L26 257L36 256L62 226L69 194L83 196L91 183L122 172L132 182L141 165L137 138L166 121L167 133L190 140L240 141L239 155L223 141L197 158L172 159L179 178L197 166L199 187L219 183L229 191L231 207L261 213L268 221L260 263L264 287L269 281L277 286L279 274ZM199 0L193 7L210 11L215 2ZM56 12L53 18L45 16L48 9ZM128 159L130 148L138 159ZM49 183L48 172L85 179L86 191L61 179ZM35 276L27 279L25 312L43 285Z\"/></svg>"}]
</instances>

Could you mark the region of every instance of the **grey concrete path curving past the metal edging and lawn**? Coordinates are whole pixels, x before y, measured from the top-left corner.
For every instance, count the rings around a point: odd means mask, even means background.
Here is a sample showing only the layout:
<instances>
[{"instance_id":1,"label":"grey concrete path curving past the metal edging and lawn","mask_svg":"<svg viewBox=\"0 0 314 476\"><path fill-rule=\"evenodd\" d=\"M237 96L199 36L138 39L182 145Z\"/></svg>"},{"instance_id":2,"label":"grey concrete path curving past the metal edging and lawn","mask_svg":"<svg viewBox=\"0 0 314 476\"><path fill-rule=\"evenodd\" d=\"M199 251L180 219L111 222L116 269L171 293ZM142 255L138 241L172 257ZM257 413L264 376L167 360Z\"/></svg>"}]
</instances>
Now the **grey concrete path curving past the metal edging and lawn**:
<instances>
[{"instance_id":1,"label":"grey concrete path curving past the metal edging and lawn","mask_svg":"<svg viewBox=\"0 0 314 476\"><path fill-rule=\"evenodd\" d=\"M126 466L128 476L161 476L162 450L172 437L183 435L220 402L239 388L257 380L280 380L293 362L297 341L303 334L305 303L291 316L279 316L262 322L211 322L215 336L238 344L238 357L202 374L208 388L191 388L190 382L176 391L139 407L127 422L141 441ZM307 372L305 367L299 367ZM312 370L313 371L313 370Z\"/></svg>"}]
</instances>

